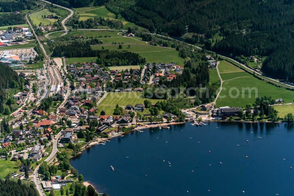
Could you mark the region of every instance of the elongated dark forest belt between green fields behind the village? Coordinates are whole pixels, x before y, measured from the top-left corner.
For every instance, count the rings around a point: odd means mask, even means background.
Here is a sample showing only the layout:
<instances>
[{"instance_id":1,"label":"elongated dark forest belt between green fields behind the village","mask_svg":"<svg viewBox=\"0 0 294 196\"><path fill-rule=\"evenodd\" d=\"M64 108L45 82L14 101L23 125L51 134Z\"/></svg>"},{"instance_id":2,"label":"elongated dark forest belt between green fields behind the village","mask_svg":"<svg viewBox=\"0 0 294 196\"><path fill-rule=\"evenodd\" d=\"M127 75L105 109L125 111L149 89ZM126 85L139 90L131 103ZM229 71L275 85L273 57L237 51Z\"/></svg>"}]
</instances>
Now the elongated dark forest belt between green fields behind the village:
<instances>
[{"instance_id":1,"label":"elongated dark forest belt between green fields behind the village","mask_svg":"<svg viewBox=\"0 0 294 196\"><path fill-rule=\"evenodd\" d=\"M98 44L98 39L74 41L71 44L59 44L53 50L53 57L97 57L96 63L103 66L122 66L145 64L146 59L127 51L93 50L91 45Z\"/></svg>"}]
</instances>

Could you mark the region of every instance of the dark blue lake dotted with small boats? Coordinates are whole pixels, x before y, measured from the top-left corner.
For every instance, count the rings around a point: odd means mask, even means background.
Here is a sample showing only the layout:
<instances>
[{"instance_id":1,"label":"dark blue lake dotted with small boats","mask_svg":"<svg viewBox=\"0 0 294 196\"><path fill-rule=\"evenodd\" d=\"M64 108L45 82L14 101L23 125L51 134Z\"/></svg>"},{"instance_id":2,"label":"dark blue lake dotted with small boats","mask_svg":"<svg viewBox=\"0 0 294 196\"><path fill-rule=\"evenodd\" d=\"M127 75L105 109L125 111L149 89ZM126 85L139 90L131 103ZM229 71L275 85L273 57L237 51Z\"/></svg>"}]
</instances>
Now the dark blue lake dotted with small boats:
<instances>
[{"instance_id":1,"label":"dark blue lake dotted with small boats","mask_svg":"<svg viewBox=\"0 0 294 196\"><path fill-rule=\"evenodd\" d=\"M293 124L206 124L130 132L85 150L71 165L111 196L294 195Z\"/></svg>"}]
</instances>

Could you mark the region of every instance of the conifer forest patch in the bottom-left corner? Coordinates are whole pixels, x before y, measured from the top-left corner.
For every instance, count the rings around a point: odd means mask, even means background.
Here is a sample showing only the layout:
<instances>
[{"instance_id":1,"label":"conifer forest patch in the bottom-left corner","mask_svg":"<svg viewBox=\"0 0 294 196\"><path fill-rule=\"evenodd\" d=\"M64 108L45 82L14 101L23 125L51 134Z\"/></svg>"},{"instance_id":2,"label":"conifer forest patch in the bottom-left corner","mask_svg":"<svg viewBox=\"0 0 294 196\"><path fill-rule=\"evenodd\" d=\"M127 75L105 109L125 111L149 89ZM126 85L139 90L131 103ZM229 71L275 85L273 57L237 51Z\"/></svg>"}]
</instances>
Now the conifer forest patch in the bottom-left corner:
<instances>
[{"instance_id":1,"label":"conifer forest patch in the bottom-left corner","mask_svg":"<svg viewBox=\"0 0 294 196\"><path fill-rule=\"evenodd\" d=\"M38 193L33 182L21 182L20 179L12 180L7 177L6 180L0 179L0 195L37 196Z\"/></svg>"}]
</instances>

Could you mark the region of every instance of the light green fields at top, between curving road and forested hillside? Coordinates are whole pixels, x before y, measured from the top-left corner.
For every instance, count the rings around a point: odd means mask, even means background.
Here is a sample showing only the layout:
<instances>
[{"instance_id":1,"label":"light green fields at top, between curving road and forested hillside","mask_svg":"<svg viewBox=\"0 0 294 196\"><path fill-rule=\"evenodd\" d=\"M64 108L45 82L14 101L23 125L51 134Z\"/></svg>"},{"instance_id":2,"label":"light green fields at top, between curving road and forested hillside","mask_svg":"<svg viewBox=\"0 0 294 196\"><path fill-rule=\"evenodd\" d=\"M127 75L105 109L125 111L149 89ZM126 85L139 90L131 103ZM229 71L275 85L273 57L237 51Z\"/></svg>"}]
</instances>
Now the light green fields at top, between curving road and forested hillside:
<instances>
[{"instance_id":1,"label":"light green fields at top, between curving road and forested hillside","mask_svg":"<svg viewBox=\"0 0 294 196\"><path fill-rule=\"evenodd\" d=\"M103 19L110 19L110 20L121 20L123 22L123 26L127 29L128 27L134 27L135 24L126 21L121 15L118 15L118 18L116 19L115 14L111 13L106 9L105 6L92 6L92 7L81 7L74 9L76 13L80 16L79 20L86 20L88 18L94 18L94 17L101 17Z\"/></svg>"}]
</instances>

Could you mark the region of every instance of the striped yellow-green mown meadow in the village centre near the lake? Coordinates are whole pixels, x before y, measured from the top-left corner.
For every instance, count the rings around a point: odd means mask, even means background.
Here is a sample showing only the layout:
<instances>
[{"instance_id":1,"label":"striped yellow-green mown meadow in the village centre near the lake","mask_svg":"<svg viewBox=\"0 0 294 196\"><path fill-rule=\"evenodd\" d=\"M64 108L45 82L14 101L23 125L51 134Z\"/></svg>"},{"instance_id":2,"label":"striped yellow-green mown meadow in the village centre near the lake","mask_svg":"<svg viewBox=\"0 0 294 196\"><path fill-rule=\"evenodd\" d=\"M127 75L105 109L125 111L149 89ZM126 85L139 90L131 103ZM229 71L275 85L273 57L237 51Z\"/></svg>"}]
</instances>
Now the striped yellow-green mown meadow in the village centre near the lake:
<instances>
[{"instance_id":1,"label":"striped yellow-green mown meadow in the village centre near the lake","mask_svg":"<svg viewBox=\"0 0 294 196\"><path fill-rule=\"evenodd\" d=\"M110 105L115 106L118 104L119 106L126 106L131 104L135 106L136 104L143 104L146 98L141 97L141 92L123 92L123 93L108 93L107 96L102 100L99 105ZM163 99L148 99L151 103L156 103L158 101L162 101Z\"/></svg>"}]
</instances>

